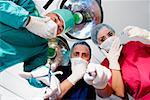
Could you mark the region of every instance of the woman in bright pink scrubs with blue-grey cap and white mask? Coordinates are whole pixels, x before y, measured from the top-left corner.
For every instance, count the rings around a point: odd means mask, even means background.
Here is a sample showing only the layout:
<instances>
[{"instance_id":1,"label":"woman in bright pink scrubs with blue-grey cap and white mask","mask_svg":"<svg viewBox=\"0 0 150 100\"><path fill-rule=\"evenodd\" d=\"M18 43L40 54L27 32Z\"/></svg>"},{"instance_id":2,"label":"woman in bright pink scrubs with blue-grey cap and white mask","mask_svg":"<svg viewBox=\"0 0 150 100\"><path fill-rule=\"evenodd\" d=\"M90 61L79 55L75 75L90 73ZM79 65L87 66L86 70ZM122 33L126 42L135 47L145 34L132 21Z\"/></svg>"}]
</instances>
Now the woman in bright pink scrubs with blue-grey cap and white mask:
<instances>
[{"instance_id":1,"label":"woman in bright pink scrubs with blue-grey cap and white mask","mask_svg":"<svg viewBox=\"0 0 150 100\"><path fill-rule=\"evenodd\" d=\"M112 73L110 87L114 93L124 97L120 94L127 92L134 99L150 99L150 44L144 44L140 41L129 41L126 44L121 44L114 29L107 24L97 25L91 34L92 41L99 46L106 56L102 65L121 73L120 83L123 82L125 89L119 91L119 89L113 88L114 84L120 84L113 81L115 73ZM114 45L115 42L117 45ZM119 43L120 45L118 45Z\"/></svg>"}]
</instances>

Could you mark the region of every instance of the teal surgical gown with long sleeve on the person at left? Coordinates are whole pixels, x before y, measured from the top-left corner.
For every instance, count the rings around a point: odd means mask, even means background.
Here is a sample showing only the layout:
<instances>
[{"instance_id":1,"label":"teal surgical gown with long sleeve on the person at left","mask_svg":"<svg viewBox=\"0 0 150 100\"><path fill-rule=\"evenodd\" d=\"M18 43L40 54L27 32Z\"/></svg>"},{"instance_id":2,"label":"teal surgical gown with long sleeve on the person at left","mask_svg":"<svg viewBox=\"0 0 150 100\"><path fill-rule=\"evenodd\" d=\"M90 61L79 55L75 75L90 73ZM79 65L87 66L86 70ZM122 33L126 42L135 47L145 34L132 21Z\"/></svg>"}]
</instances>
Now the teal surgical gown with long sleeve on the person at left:
<instances>
[{"instance_id":1,"label":"teal surgical gown with long sleeve on the person at left","mask_svg":"<svg viewBox=\"0 0 150 100\"><path fill-rule=\"evenodd\" d=\"M30 15L39 16L32 0L0 1L0 48L1 51L9 50L9 54L0 55L0 72L20 62L25 62L25 71L46 63L47 40L24 28Z\"/></svg>"}]
</instances>

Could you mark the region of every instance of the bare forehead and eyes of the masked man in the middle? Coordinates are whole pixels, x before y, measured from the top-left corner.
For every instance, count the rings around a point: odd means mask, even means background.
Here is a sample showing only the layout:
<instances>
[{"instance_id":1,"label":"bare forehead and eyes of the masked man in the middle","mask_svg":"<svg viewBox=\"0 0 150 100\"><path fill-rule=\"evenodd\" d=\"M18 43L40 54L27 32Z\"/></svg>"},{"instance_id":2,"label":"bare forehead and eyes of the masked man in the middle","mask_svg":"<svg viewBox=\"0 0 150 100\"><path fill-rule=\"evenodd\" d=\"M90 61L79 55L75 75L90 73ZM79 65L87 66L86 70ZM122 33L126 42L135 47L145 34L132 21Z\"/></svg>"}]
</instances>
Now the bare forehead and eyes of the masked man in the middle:
<instances>
[{"instance_id":1,"label":"bare forehead and eyes of the masked man in the middle","mask_svg":"<svg viewBox=\"0 0 150 100\"><path fill-rule=\"evenodd\" d=\"M72 54L72 58L80 57L86 61L90 61L90 50L86 45L78 44L74 47Z\"/></svg>"}]
</instances>

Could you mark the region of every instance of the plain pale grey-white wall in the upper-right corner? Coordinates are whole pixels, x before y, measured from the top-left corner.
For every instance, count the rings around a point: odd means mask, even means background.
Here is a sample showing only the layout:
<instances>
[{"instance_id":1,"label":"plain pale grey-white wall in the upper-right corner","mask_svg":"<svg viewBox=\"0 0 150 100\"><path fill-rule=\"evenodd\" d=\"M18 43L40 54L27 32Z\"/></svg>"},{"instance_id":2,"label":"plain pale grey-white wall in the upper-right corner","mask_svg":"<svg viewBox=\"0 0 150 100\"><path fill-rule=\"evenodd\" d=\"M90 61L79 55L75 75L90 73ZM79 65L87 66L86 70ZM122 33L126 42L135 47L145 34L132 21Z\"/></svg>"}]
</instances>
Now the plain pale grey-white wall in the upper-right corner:
<instances>
[{"instance_id":1,"label":"plain pale grey-white wall in the upper-right corner","mask_svg":"<svg viewBox=\"0 0 150 100\"><path fill-rule=\"evenodd\" d=\"M150 30L150 0L102 0L104 23L117 32L127 25Z\"/></svg>"}]
</instances>

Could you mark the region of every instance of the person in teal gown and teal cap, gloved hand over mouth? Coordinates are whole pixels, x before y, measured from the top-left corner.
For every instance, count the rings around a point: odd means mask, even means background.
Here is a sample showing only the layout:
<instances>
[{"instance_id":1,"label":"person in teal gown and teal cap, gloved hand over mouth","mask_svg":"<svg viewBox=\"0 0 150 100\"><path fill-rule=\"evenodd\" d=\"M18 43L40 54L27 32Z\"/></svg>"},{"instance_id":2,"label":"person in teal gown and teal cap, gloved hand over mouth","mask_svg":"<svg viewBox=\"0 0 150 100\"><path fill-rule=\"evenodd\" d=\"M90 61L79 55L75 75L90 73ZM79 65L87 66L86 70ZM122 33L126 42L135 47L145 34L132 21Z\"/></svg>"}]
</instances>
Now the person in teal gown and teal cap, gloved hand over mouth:
<instances>
[{"instance_id":1,"label":"person in teal gown and teal cap, gloved hand over mouth","mask_svg":"<svg viewBox=\"0 0 150 100\"><path fill-rule=\"evenodd\" d=\"M29 72L47 62L48 37L53 37L49 26L57 26L52 28L58 32L57 22L62 20L62 33L74 26L70 11L58 9L53 13L51 19L43 17L32 0L0 1L0 72L20 62Z\"/></svg>"}]
</instances>

